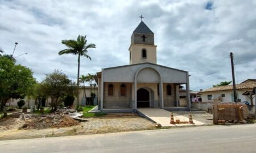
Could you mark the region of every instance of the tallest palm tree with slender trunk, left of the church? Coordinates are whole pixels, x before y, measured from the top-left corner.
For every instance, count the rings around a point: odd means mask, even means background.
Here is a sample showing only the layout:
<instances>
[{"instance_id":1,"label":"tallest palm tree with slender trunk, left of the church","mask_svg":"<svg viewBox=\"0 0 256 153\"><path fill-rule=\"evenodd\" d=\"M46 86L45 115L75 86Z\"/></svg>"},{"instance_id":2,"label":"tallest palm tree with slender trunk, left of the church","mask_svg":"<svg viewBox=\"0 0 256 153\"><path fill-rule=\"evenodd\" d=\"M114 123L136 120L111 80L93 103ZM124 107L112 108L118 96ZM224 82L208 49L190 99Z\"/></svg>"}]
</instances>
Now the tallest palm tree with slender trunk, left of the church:
<instances>
[{"instance_id":1,"label":"tallest palm tree with slender trunk, left of the church","mask_svg":"<svg viewBox=\"0 0 256 153\"><path fill-rule=\"evenodd\" d=\"M96 48L95 44L89 44L86 45L86 36L78 36L77 40L62 40L61 43L68 47L68 49L61 50L59 52L59 55L62 54L73 54L78 55L78 66L77 66L77 90L79 90L79 74L80 74L80 56L90 58L88 56L88 50L89 48ZM79 106L79 92L77 93L77 106Z\"/></svg>"}]
</instances>

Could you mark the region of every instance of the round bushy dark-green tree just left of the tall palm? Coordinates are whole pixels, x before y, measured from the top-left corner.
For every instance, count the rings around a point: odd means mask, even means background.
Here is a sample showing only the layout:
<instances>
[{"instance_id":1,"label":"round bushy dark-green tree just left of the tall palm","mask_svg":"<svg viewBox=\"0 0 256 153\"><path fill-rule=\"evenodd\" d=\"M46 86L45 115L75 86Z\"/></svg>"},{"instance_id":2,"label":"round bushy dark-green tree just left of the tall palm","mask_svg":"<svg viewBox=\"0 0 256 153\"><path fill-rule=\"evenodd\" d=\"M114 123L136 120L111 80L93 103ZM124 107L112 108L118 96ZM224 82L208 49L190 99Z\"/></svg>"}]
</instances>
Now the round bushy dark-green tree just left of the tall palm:
<instances>
[{"instance_id":1,"label":"round bushy dark-green tree just left of the tall palm","mask_svg":"<svg viewBox=\"0 0 256 153\"><path fill-rule=\"evenodd\" d=\"M51 97L51 107L54 111L59 105L59 98L67 95L77 94L75 82L68 79L68 76L59 70L53 71L46 75L46 79L42 82L42 92L44 95Z\"/></svg>"}]
</instances>

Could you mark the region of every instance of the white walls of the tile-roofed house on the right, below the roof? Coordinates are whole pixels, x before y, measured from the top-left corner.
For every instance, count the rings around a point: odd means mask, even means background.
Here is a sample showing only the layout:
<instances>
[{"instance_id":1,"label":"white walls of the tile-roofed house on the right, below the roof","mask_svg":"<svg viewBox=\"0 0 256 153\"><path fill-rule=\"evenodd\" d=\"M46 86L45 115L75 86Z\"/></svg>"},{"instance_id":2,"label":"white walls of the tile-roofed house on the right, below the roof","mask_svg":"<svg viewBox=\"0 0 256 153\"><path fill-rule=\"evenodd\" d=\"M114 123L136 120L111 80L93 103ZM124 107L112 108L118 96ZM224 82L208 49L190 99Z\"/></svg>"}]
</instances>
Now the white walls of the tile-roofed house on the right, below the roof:
<instances>
[{"instance_id":1,"label":"white walls of the tile-roofed house on the right, below the roof","mask_svg":"<svg viewBox=\"0 0 256 153\"><path fill-rule=\"evenodd\" d=\"M245 91L246 90L237 91L237 98L241 99L241 102L248 101L250 103L250 99L247 96L242 95ZM221 97L222 94L225 94L225 97ZM212 99L208 100L207 95L212 95ZM201 94L202 101L213 102L214 97L216 97L216 98L219 98L219 100L224 102L224 103L233 102L232 96L233 96L233 91L203 92Z\"/></svg>"}]
</instances>

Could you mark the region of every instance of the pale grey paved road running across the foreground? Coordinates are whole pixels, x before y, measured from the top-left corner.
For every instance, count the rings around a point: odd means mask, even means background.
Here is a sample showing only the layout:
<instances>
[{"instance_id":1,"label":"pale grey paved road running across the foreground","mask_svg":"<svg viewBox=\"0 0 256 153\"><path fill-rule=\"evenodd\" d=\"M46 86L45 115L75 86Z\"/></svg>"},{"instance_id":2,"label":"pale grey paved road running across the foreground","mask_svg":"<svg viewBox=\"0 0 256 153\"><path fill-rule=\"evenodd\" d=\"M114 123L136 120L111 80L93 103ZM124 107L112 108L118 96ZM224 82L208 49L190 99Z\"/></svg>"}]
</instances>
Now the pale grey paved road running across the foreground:
<instances>
[{"instance_id":1,"label":"pale grey paved road running across the foreground","mask_svg":"<svg viewBox=\"0 0 256 153\"><path fill-rule=\"evenodd\" d=\"M203 126L0 141L0 152L256 152L255 142L256 125Z\"/></svg>"}]
</instances>

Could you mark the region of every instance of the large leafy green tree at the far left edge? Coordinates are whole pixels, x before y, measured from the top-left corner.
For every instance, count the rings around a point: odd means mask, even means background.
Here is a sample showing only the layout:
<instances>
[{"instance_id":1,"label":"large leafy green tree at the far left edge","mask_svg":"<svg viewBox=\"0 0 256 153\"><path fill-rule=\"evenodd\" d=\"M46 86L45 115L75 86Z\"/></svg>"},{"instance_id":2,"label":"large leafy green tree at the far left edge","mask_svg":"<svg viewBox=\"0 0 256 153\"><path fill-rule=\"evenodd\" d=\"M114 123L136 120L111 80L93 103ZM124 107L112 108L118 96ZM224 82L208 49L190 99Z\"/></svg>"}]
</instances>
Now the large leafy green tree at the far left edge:
<instances>
[{"instance_id":1,"label":"large leafy green tree at the far left edge","mask_svg":"<svg viewBox=\"0 0 256 153\"><path fill-rule=\"evenodd\" d=\"M25 66L15 65L8 57L0 57L0 102L3 116L7 116L5 104L10 99L23 98L35 84L32 71Z\"/></svg>"}]
</instances>

